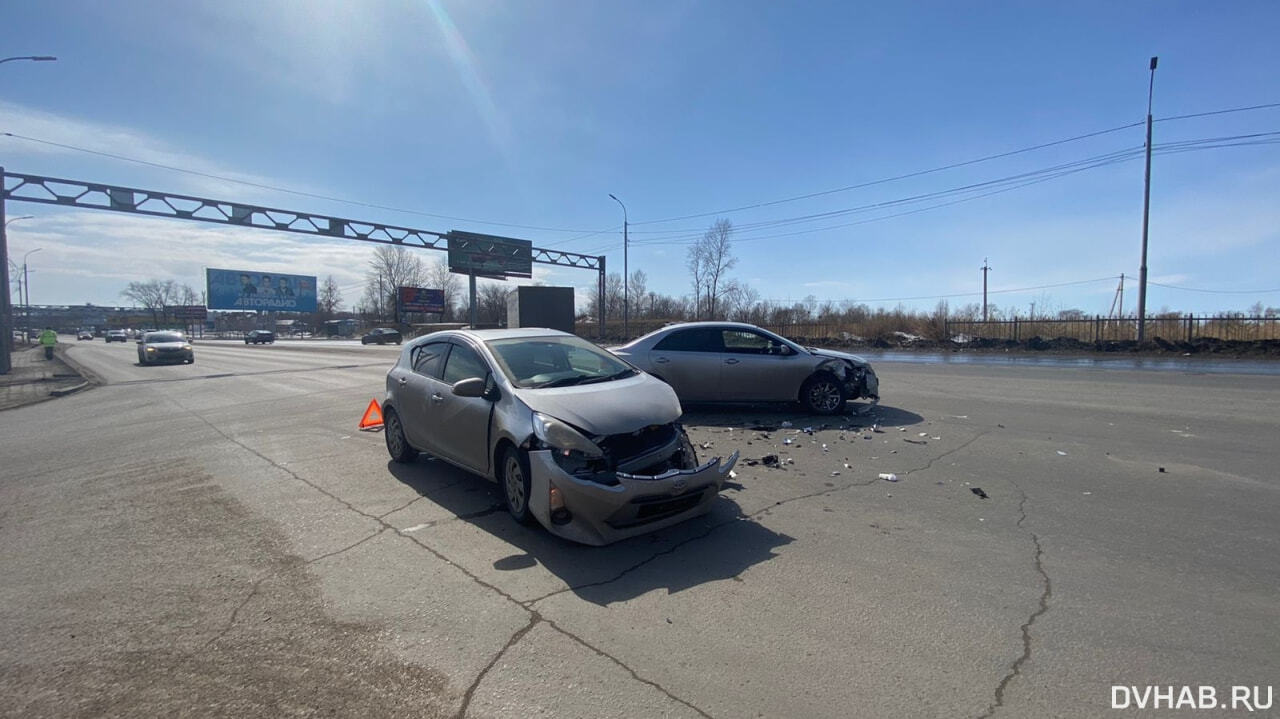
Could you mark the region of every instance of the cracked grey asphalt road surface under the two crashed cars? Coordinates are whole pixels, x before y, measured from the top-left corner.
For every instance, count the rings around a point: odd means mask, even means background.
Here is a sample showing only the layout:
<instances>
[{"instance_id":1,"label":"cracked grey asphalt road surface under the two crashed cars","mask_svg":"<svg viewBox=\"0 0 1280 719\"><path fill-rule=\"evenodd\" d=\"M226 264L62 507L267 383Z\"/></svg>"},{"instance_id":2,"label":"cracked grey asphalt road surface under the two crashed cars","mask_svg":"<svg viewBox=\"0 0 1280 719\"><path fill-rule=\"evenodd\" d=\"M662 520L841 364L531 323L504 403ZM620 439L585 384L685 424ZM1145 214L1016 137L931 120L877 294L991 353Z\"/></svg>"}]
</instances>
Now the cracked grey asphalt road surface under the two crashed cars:
<instances>
[{"instance_id":1,"label":"cracked grey asphalt road surface under the two crashed cars","mask_svg":"<svg viewBox=\"0 0 1280 719\"><path fill-rule=\"evenodd\" d=\"M356 431L397 351L72 347L105 384L0 412L0 711L1108 716L1115 684L1280 684L1274 376L879 363L865 415L686 408L701 455L783 464L585 548Z\"/></svg>"}]
</instances>

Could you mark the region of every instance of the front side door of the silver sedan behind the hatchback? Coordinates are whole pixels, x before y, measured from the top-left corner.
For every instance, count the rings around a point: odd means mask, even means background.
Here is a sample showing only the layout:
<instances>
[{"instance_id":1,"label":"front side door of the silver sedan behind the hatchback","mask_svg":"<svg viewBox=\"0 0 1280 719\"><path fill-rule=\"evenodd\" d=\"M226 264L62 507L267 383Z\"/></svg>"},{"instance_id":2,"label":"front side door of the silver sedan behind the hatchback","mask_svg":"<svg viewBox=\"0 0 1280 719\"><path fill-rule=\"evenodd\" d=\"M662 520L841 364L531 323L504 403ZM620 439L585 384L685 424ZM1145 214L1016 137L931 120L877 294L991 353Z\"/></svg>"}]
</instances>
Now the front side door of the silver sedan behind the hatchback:
<instances>
[{"instance_id":1,"label":"front side door of the silver sedan behind the hatchback","mask_svg":"<svg viewBox=\"0 0 1280 719\"><path fill-rule=\"evenodd\" d=\"M800 394L809 365L790 347L749 329L726 328L721 391L733 402L790 402Z\"/></svg>"}]
</instances>

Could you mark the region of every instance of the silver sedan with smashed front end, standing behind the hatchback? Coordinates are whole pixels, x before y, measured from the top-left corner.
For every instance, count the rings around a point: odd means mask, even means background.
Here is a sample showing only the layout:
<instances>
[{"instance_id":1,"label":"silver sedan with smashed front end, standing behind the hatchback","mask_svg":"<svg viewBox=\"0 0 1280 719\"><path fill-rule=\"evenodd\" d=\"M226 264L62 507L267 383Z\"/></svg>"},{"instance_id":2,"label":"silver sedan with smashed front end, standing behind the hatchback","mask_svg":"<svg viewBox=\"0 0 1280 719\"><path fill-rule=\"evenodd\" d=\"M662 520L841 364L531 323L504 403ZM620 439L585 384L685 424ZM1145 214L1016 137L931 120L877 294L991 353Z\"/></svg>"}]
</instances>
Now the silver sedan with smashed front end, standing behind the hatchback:
<instances>
[{"instance_id":1,"label":"silver sedan with smashed front end, standing behind the hatchback","mask_svg":"<svg viewBox=\"0 0 1280 719\"><path fill-rule=\"evenodd\" d=\"M685 402L799 402L831 415L849 399L879 400L879 380L861 357L801 347L755 325L669 325L612 352Z\"/></svg>"}]
</instances>

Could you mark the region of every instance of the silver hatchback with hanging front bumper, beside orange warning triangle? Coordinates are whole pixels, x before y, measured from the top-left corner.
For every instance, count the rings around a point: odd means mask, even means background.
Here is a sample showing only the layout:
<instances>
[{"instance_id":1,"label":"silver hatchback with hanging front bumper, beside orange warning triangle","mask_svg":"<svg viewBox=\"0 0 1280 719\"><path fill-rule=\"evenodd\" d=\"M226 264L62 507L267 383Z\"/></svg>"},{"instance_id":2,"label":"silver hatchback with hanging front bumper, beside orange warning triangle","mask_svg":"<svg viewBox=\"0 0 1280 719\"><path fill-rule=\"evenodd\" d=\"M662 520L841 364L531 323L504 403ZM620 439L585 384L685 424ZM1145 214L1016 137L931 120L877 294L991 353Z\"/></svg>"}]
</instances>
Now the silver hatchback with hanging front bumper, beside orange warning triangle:
<instances>
[{"instance_id":1,"label":"silver hatchback with hanging front bumper, beside orange warning triangle","mask_svg":"<svg viewBox=\"0 0 1280 719\"><path fill-rule=\"evenodd\" d=\"M699 462L672 389L544 329L420 336L387 374L387 450L502 486L507 510L603 545L704 514L737 461Z\"/></svg>"}]
</instances>

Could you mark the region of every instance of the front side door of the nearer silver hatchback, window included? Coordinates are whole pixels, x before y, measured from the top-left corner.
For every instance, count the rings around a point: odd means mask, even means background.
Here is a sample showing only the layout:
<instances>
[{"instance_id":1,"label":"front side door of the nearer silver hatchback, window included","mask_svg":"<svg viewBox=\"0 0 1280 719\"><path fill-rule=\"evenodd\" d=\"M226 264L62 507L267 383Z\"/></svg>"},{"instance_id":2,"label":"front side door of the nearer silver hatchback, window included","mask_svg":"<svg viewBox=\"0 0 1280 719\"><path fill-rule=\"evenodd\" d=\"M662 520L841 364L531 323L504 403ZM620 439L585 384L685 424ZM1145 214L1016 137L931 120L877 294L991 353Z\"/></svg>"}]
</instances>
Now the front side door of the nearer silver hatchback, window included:
<instances>
[{"instance_id":1,"label":"front side door of the nearer silver hatchback, window included","mask_svg":"<svg viewBox=\"0 0 1280 719\"><path fill-rule=\"evenodd\" d=\"M493 370L470 344L454 340L444 362L439 399L430 397L435 415L436 453L479 473L489 470L489 416L493 402L483 397L458 397L453 384L471 377L488 379Z\"/></svg>"}]
</instances>

